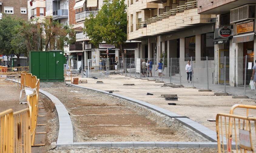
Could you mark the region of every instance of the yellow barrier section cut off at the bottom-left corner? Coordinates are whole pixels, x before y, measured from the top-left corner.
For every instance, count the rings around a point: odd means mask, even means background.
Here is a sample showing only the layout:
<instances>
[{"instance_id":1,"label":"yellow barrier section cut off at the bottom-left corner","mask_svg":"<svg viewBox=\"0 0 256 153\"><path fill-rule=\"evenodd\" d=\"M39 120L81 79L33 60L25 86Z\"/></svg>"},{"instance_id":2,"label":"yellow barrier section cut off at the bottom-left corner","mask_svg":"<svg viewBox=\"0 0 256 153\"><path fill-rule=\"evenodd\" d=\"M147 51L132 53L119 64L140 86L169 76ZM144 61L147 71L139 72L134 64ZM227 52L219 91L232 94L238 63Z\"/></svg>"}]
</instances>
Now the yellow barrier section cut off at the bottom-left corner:
<instances>
[{"instance_id":1,"label":"yellow barrier section cut off at the bottom-left corner","mask_svg":"<svg viewBox=\"0 0 256 153\"><path fill-rule=\"evenodd\" d=\"M14 152L14 121L13 110L8 109L0 113L1 135L0 153Z\"/></svg>"}]
</instances>

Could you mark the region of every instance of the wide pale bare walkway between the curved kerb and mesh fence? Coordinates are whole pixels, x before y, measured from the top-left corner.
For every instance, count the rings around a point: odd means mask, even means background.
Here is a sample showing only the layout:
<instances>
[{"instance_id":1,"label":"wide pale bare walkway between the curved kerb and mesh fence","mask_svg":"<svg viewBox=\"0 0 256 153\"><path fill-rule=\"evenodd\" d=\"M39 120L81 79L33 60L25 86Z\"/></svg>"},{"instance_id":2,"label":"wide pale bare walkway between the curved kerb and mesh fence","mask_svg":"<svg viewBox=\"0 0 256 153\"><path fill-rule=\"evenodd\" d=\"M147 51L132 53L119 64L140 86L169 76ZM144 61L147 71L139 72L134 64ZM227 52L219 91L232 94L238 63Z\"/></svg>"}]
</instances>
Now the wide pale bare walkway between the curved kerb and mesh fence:
<instances>
[{"instance_id":1,"label":"wide pale bare walkway between the curved kerb and mesh fence","mask_svg":"<svg viewBox=\"0 0 256 153\"><path fill-rule=\"evenodd\" d=\"M199 92L198 89L192 88L166 87L163 86L163 83L155 83L154 81L135 79L121 75L110 75L108 78L83 79L87 79L88 83L79 83L80 86L112 91L113 93L150 103L179 114L180 116L187 116L213 131L216 131L215 122L209 122L207 119L215 119L217 113L229 113L231 106L234 104L255 105L253 99L232 99L232 96L214 96L214 92ZM103 81L103 84L96 83L97 81ZM167 78L163 78L163 81L168 82ZM134 86L123 85L130 83L134 84ZM187 82L183 82L183 84L193 85L193 83ZM153 95L147 95L147 93L152 93ZM178 100L165 100L160 97L161 94L177 94ZM176 103L177 105L168 105L168 103ZM256 114L256 110L250 113L254 116L253 114ZM244 115L244 110L237 110L236 114Z\"/></svg>"}]
</instances>

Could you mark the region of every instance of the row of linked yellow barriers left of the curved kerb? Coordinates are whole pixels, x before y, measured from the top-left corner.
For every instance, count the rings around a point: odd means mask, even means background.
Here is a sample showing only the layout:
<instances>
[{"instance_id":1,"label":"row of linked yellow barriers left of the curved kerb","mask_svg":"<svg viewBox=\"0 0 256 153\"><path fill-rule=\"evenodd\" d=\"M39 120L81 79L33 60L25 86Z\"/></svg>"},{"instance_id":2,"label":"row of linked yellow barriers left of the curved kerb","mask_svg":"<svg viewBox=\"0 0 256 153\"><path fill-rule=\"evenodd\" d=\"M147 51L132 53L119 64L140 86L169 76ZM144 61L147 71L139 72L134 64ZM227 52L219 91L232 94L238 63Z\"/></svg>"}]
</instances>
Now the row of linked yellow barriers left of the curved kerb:
<instances>
[{"instance_id":1,"label":"row of linked yellow barriers left of the curved kerb","mask_svg":"<svg viewBox=\"0 0 256 153\"><path fill-rule=\"evenodd\" d=\"M33 88L34 93L27 96L27 108L18 112L8 109L0 113L0 153L31 152L34 144L39 110L39 82L36 76L23 71L21 89Z\"/></svg>"}]
</instances>

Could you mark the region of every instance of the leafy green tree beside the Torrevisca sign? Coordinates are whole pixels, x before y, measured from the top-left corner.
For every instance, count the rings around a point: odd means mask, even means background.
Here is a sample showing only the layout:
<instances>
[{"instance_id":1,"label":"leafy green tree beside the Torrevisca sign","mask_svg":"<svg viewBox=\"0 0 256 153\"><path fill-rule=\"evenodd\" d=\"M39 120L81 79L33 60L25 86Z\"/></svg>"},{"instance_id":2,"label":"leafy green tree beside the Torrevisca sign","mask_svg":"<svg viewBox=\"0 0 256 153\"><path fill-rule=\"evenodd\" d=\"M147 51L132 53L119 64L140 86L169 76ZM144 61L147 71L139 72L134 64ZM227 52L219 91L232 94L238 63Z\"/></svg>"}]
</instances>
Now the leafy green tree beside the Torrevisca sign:
<instances>
[{"instance_id":1,"label":"leafy green tree beside the Torrevisca sign","mask_svg":"<svg viewBox=\"0 0 256 153\"><path fill-rule=\"evenodd\" d=\"M126 4L124 0L114 0L113 3L104 0L104 5L94 18L84 22L84 32L91 39L91 43L99 47L99 43L105 41L107 44L118 46L122 57L125 57L123 45L127 40Z\"/></svg>"}]
</instances>

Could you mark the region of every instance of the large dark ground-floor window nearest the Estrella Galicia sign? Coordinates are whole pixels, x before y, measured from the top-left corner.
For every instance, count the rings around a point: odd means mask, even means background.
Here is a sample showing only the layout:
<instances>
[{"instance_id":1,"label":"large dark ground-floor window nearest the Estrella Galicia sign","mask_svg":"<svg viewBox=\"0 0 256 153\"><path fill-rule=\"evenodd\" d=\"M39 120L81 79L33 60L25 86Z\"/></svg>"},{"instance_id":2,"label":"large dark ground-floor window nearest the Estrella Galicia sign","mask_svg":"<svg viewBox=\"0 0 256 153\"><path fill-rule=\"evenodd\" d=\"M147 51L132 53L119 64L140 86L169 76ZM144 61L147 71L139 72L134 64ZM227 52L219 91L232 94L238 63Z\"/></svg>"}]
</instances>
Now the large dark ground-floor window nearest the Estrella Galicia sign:
<instances>
[{"instance_id":1,"label":"large dark ground-floor window nearest the Estrella Galicia sign","mask_svg":"<svg viewBox=\"0 0 256 153\"><path fill-rule=\"evenodd\" d=\"M214 33L207 33L201 35L201 60L214 60Z\"/></svg>"}]
</instances>

